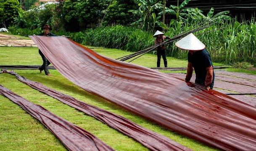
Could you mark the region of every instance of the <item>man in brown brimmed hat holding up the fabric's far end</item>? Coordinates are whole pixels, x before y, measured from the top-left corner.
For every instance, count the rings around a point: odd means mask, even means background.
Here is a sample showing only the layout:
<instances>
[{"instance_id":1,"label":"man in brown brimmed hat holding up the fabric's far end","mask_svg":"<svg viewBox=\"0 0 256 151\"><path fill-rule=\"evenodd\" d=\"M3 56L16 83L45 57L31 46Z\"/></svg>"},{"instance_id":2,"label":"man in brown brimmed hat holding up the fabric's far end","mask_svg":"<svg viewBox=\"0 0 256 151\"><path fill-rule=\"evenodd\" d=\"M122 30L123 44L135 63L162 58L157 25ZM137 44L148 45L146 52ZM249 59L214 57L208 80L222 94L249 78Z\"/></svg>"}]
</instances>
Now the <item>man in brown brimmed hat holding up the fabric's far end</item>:
<instances>
[{"instance_id":1,"label":"man in brown brimmed hat holding up the fabric's far end","mask_svg":"<svg viewBox=\"0 0 256 151\"><path fill-rule=\"evenodd\" d=\"M38 36L57 36L53 33L50 33L50 30L52 30L52 28L45 24L44 27L42 27L43 32L40 33ZM38 69L40 70L40 73L42 73L42 70L44 70L45 74L48 76L51 76L52 74L50 74L49 70L48 70L48 66L50 64L50 61L45 57L45 55L40 51L39 49L39 54L42 57L43 60L43 64L41 67L39 67Z\"/></svg>"}]
</instances>

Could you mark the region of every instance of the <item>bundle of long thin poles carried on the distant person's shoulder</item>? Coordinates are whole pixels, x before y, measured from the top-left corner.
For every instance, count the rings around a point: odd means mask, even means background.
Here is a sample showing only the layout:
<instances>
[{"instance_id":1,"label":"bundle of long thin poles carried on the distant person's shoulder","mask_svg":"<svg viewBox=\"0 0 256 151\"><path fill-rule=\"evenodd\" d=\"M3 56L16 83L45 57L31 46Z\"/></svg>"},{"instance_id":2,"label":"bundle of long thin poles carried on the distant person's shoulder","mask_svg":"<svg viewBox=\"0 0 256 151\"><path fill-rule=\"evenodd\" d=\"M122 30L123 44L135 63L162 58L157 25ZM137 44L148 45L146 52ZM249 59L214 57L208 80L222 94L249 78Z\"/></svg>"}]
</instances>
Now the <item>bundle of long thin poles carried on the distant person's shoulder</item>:
<instances>
[{"instance_id":1,"label":"bundle of long thin poles carried on the distant person's shoulder","mask_svg":"<svg viewBox=\"0 0 256 151\"><path fill-rule=\"evenodd\" d=\"M216 19L217 19L217 18L216 18ZM205 21L203 21L202 23L198 24L197 26L194 26L193 28L190 28L189 30L187 30L187 31L185 31L185 32L183 32L183 33L180 33L179 35L176 35L176 36L170 38L168 41L164 41L162 44L168 44L168 43L170 43L170 42L172 42L172 41L177 41L177 40L179 40L179 39L181 39L181 38L187 36L187 35L190 34L190 33L195 33L195 32L201 31L201 30L203 30L203 29L205 29L205 28L208 28L208 27L210 27L211 25L213 25L213 24L216 23L216 19L213 19L213 20L212 20L212 19L205 20ZM223 29L223 28L219 28L219 29ZM216 29L216 30L219 30L219 29ZM216 31L216 30L214 30L214 31ZM211 31L208 31L208 32L211 32ZM200 33L200 34L203 34L203 33ZM116 60L126 61L126 60L128 60L128 59L132 59L132 58L135 57L134 59L128 61L128 62L131 62L131 61L133 61L133 60L139 58L140 56L143 56L144 54L146 54L146 53L148 53L148 52L150 52L150 51L153 51L154 49L156 49L158 46L160 46L160 45L162 45L162 44L156 44L156 45L154 45L154 46L151 46L151 47L149 47L149 48L147 48L147 49L144 49L144 50L135 52L135 53L133 53L133 54L129 54L129 55L127 55L127 56L122 56L122 57L120 57L120 58L117 58ZM136 56L137 56L137 57L136 57Z\"/></svg>"}]
</instances>

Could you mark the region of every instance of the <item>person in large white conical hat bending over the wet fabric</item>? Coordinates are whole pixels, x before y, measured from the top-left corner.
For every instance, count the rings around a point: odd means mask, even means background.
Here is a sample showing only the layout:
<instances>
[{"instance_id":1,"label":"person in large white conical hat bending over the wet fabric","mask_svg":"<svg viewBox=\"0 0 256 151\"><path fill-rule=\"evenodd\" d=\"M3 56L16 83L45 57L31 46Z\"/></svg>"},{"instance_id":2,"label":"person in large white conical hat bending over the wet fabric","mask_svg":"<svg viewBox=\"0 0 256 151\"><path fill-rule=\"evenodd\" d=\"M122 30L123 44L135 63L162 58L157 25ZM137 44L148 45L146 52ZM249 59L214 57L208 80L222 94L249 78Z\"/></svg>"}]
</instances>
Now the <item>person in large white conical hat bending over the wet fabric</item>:
<instances>
[{"instance_id":1,"label":"person in large white conical hat bending over the wet fabric","mask_svg":"<svg viewBox=\"0 0 256 151\"><path fill-rule=\"evenodd\" d=\"M187 54L188 63L185 81L190 81L194 69L195 83L204 85L206 90L213 89L214 69L211 56L205 49L205 45L193 33L177 41L175 45L180 49L189 51Z\"/></svg>"}]
</instances>

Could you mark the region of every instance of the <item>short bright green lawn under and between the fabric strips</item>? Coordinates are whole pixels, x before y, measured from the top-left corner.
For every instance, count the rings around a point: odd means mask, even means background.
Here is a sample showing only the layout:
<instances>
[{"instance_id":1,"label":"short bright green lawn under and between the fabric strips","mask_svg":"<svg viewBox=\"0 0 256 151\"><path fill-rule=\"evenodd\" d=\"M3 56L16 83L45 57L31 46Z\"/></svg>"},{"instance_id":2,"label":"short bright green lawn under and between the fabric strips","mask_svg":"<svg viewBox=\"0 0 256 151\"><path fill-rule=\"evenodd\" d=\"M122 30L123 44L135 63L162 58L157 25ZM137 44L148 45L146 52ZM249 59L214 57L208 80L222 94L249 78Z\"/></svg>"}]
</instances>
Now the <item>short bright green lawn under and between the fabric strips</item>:
<instances>
[{"instance_id":1,"label":"short bright green lawn under and between the fabric strips","mask_svg":"<svg viewBox=\"0 0 256 151\"><path fill-rule=\"evenodd\" d=\"M118 58L130 54L127 51L117 49L92 48L92 50L111 58ZM167 57L169 67L186 67L187 61ZM156 67L156 56L146 54L140 59L133 61L145 67ZM42 59L37 48L29 47L0 47L0 65L39 65ZM214 64L219 65L219 64ZM161 67L163 67L161 61ZM15 70L21 76L40 82L52 89L71 95L78 100L108 110L112 113L124 116L129 120L148 128L157 133L171 138L182 145L195 151L216 151L216 148L206 146L198 141L179 135L160 125L152 123L144 118L85 92L80 87L69 82L57 70L50 70L52 77L40 74L39 70ZM101 123L84 113L75 110L62 102L44 95L19 82L16 77L9 74L0 74L0 84L11 91L21 95L27 100L45 107L50 112L69 120L71 123L84 128L97 136L118 151L147 151L148 149L113 128ZM3 151L62 151L66 148L55 136L48 131L39 121L28 115L21 107L7 98L0 96L0 148Z\"/></svg>"}]
</instances>

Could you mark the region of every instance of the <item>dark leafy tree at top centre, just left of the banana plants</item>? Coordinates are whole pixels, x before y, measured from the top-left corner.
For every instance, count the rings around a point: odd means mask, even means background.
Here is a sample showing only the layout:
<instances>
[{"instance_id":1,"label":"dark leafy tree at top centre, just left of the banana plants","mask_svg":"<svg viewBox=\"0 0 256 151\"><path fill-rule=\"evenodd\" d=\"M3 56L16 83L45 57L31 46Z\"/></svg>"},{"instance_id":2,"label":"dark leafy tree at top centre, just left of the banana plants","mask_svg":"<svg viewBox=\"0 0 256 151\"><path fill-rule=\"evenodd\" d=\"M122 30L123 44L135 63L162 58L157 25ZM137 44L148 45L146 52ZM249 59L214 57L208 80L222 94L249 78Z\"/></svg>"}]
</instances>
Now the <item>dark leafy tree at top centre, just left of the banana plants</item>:
<instances>
[{"instance_id":1,"label":"dark leafy tree at top centre, just left of the banana plants","mask_svg":"<svg viewBox=\"0 0 256 151\"><path fill-rule=\"evenodd\" d=\"M129 25L138 19L137 15L129 13L128 10L137 9L133 0L114 0L106 10L104 25Z\"/></svg>"}]
</instances>

